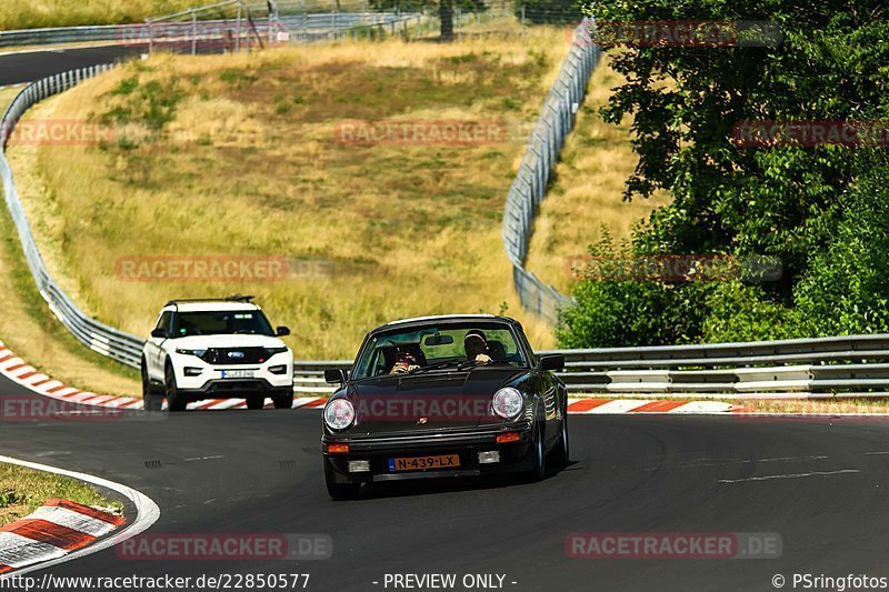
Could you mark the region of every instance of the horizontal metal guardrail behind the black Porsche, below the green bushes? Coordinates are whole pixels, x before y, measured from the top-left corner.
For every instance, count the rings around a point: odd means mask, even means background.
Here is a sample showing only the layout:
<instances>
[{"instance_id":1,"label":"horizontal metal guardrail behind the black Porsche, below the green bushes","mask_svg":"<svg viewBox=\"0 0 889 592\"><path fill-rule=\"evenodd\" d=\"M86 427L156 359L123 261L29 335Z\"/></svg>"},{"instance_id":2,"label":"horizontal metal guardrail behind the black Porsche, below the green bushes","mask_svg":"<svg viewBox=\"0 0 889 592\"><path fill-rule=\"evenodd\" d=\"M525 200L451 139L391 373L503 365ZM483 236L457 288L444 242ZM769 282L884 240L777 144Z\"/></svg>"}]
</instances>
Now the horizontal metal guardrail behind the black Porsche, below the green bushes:
<instances>
[{"instance_id":1,"label":"horizontal metal guardrail behind the black Porsche, below the green bushes","mask_svg":"<svg viewBox=\"0 0 889 592\"><path fill-rule=\"evenodd\" d=\"M889 335L849 335L707 345L550 350L571 393L759 399L889 397ZM296 391L329 394L330 368L349 361L297 362Z\"/></svg>"}]
</instances>

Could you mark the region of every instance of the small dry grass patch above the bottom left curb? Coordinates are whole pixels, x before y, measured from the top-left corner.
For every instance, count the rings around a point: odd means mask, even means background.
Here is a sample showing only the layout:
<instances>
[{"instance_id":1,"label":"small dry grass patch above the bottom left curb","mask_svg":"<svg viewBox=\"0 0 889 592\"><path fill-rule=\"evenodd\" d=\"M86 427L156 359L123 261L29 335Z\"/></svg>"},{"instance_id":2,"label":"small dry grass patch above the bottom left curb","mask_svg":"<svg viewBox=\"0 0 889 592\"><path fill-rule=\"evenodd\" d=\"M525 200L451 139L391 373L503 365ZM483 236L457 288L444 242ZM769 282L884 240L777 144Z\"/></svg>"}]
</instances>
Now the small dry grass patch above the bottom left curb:
<instances>
[{"instance_id":1,"label":"small dry grass patch above the bottom left curb","mask_svg":"<svg viewBox=\"0 0 889 592\"><path fill-rule=\"evenodd\" d=\"M123 508L119 501L108 501L92 485L74 479L0 463L0 525L27 516L51 498L118 511Z\"/></svg>"}]
</instances>

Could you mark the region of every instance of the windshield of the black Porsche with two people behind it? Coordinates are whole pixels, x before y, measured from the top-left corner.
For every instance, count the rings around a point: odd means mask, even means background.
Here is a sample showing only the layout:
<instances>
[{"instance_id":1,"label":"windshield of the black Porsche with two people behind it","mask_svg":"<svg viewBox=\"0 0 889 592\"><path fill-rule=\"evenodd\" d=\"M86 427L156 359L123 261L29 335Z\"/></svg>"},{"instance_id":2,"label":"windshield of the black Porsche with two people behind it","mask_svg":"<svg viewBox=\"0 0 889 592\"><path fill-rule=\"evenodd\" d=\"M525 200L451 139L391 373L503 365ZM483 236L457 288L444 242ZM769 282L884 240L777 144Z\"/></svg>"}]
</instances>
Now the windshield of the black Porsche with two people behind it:
<instances>
[{"instance_id":1,"label":"windshield of the black Porsche with two people behind it","mask_svg":"<svg viewBox=\"0 0 889 592\"><path fill-rule=\"evenodd\" d=\"M526 365L510 325L498 322L412 325L382 331L368 340L358 355L352 378L489 364Z\"/></svg>"}]
</instances>

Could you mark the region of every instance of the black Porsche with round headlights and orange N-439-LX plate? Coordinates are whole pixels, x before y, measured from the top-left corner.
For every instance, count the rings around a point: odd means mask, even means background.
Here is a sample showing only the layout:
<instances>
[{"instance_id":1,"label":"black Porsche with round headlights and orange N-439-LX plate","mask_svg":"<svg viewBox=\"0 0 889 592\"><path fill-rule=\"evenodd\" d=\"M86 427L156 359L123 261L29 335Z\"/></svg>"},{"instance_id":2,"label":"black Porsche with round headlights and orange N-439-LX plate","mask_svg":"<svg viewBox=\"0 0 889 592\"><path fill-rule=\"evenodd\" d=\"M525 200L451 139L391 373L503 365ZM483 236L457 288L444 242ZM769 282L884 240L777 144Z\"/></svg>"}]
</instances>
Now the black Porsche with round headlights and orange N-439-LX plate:
<instances>
[{"instance_id":1,"label":"black Porsche with round headlights and orange N-439-LX plate","mask_svg":"<svg viewBox=\"0 0 889 592\"><path fill-rule=\"evenodd\" d=\"M535 355L521 324L466 314L396 321L368 333L351 373L323 410L328 492L361 483L522 473L568 463L568 395L552 372L562 355ZM350 375L351 374L351 375Z\"/></svg>"}]
</instances>

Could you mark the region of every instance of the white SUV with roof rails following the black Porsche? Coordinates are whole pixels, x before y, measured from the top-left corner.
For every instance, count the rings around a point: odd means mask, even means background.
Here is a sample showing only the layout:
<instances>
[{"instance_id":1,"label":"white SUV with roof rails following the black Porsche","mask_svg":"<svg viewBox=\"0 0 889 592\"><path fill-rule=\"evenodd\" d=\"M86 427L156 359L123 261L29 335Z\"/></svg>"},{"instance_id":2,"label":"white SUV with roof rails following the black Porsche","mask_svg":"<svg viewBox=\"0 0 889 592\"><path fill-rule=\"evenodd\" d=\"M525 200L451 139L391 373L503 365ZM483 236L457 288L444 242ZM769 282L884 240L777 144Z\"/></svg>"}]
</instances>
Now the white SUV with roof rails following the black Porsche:
<instances>
[{"instance_id":1,"label":"white SUV with roof rails following the black Porsche","mask_svg":"<svg viewBox=\"0 0 889 592\"><path fill-rule=\"evenodd\" d=\"M262 409L293 405L293 352L273 330L252 297L173 300L161 310L142 350L142 399L170 411L202 399L247 399Z\"/></svg>"}]
</instances>

